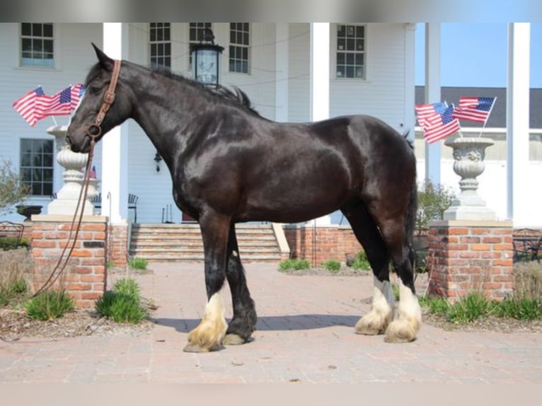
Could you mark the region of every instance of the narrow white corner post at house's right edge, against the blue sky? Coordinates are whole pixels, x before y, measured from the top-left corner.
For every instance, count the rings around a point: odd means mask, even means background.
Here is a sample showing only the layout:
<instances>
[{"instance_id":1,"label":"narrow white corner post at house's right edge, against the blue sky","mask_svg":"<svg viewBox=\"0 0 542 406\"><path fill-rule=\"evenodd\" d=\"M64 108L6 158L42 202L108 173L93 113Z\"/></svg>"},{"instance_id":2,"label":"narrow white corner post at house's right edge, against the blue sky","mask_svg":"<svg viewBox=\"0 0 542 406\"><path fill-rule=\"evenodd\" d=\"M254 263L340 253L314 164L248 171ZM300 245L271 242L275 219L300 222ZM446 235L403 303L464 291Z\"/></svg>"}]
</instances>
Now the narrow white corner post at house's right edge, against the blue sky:
<instances>
[{"instance_id":1,"label":"narrow white corner post at house's right edge, against the blue sky","mask_svg":"<svg viewBox=\"0 0 542 406\"><path fill-rule=\"evenodd\" d=\"M408 130L408 139L414 144L416 117L415 105L415 23L405 23L405 122L403 131Z\"/></svg>"}]
</instances>

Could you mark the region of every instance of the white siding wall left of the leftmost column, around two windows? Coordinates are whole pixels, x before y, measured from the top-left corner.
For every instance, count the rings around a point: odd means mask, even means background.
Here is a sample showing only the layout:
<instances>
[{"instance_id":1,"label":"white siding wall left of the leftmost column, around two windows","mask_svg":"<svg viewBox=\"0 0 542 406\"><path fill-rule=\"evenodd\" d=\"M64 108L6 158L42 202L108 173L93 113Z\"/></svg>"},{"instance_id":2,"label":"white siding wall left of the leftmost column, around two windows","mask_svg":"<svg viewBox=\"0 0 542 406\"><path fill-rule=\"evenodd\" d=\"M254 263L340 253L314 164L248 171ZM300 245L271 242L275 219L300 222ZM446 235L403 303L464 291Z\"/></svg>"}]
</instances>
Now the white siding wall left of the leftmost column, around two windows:
<instances>
[{"instance_id":1,"label":"white siding wall left of the leftmost column, around two windows","mask_svg":"<svg viewBox=\"0 0 542 406\"><path fill-rule=\"evenodd\" d=\"M13 102L28 91L42 86L46 94L54 94L69 86L83 82L96 57L91 41L102 42L101 24L54 24L54 63L51 68L28 68L19 66L20 23L0 23L0 160L9 158L15 168L19 166L19 145L22 138L54 139L46 129L54 125L50 118L30 127L23 117L12 108ZM56 117L58 124L67 124L68 117ZM62 168L54 167L54 191L62 185ZM49 197L35 197L28 204L41 204L47 209ZM21 221L18 214L5 219Z\"/></svg>"}]
</instances>

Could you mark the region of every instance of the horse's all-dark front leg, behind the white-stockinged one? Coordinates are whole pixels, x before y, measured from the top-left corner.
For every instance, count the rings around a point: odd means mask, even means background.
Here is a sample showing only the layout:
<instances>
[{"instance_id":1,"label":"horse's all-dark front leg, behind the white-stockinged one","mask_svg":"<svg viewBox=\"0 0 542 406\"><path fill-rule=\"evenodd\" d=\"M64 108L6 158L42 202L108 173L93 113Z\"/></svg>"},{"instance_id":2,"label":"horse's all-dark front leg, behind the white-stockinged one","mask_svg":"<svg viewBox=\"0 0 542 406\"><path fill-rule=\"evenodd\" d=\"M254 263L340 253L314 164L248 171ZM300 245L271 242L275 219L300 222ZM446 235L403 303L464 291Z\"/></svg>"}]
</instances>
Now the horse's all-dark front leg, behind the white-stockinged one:
<instances>
[{"instance_id":1,"label":"horse's all-dark front leg, behind the white-stockinged one","mask_svg":"<svg viewBox=\"0 0 542 406\"><path fill-rule=\"evenodd\" d=\"M235 224L231 224L226 255L226 278L231 291L233 318L231 319L224 344L243 344L252 335L256 326L256 309L246 284L245 270L241 264Z\"/></svg>"}]
</instances>

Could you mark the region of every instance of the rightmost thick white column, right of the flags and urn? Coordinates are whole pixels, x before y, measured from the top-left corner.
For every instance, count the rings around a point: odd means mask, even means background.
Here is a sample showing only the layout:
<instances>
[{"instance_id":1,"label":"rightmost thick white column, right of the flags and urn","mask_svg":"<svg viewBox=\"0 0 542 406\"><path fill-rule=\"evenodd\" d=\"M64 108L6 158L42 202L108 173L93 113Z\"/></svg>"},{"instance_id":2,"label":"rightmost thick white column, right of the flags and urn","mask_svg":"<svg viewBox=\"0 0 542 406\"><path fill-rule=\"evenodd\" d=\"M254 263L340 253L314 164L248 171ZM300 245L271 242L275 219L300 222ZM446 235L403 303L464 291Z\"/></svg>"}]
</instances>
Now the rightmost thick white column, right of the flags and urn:
<instances>
[{"instance_id":1,"label":"rightmost thick white column, right of the flags and urn","mask_svg":"<svg viewBox=\"0 0 542 406\"><path fill-rule=\"evenodd\" d=\"M507 216L529 226L529 50L531 25L508 24ZM538 183L539 185L539 183ZM539 209L539 208L538 208Z\"/></svg>"}]
</instances>

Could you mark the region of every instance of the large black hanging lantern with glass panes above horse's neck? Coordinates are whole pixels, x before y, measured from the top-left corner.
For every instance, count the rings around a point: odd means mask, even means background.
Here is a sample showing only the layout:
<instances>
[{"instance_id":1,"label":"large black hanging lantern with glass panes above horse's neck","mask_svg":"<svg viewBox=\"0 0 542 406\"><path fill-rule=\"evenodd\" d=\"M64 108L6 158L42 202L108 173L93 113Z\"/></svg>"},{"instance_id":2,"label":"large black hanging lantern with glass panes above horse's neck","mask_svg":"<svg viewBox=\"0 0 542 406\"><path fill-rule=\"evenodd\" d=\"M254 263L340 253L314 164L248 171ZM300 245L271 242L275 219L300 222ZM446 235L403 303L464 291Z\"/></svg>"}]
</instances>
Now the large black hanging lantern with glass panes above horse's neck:
<instances>
[{"instance_id":1,"label":"large black hanging lantern with glass panes above horse's neck","mask_svg":"<svg viewBox=\"0 0 542 406\"><path fill-rule=\"evenodd\" d=\"M211 28L205 28L199 44L190 45L192 54L192 79L205 86L219 86L220 54L224 47L214 44Z\"/></svg>"}]
</instances>

